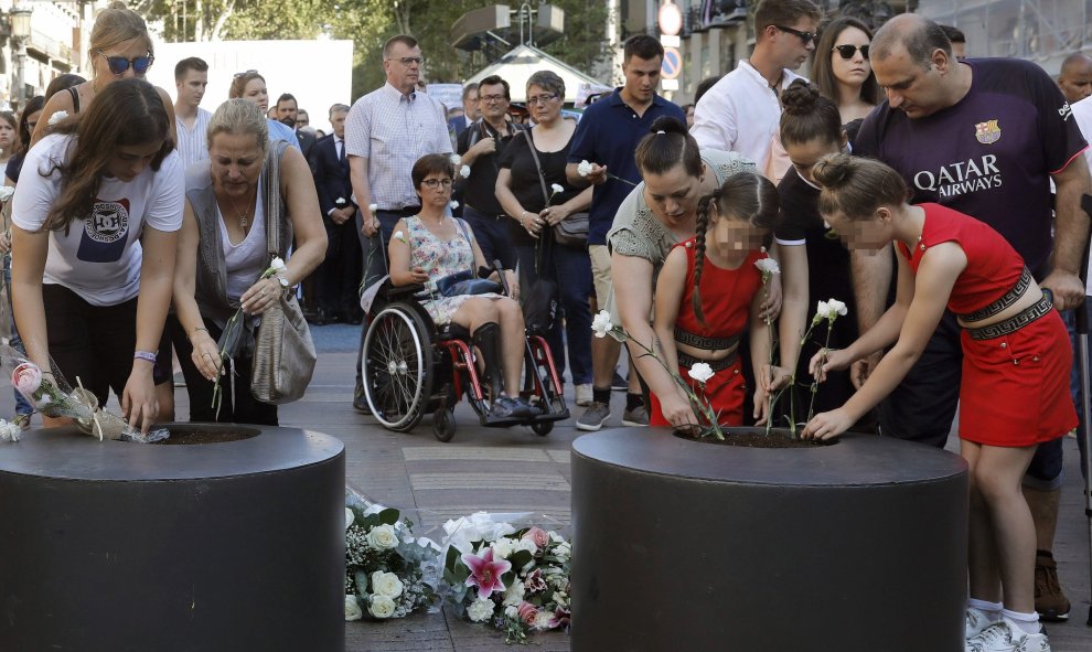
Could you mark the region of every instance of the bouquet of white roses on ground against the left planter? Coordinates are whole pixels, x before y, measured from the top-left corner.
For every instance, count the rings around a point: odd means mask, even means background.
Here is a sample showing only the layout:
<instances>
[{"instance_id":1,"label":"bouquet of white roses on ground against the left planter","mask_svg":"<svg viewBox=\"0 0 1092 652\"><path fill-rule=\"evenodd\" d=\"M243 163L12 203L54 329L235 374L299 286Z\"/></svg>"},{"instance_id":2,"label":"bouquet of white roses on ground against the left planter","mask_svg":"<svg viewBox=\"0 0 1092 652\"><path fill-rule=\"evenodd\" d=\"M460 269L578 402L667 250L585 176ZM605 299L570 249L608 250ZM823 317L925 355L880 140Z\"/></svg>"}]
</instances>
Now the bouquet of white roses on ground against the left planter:
<instances>
[{"instance_id":1,"label":"bouquet of white roses on ground against the left planter","mask_svg":"<svg viewBox=\"0 0 1092 652\"><path fill-rule=\"evenodd\" d=\"M345 489L345 620L404 618L436 598L439 546L413 523Z\"/></svg>"}]
</instances>

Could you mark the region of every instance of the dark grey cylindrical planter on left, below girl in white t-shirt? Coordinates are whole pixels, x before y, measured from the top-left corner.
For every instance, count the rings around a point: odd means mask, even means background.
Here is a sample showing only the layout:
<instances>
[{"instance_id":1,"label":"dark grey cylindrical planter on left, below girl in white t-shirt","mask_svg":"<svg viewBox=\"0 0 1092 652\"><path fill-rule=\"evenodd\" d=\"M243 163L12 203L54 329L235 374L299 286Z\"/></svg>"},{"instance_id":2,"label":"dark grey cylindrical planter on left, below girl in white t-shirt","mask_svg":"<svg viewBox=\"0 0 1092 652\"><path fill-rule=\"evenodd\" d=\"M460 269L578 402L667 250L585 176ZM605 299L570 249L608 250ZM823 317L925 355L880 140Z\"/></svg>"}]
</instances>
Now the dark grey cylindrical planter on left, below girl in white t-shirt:
<instances>
[{"instance_id":1,"label":"dark grey cylindrical planter on left, below girl in white t-shirt","mask_svg":"<svg viewBox=\"0 0 1092 652\"><path fill-rule=\"evenodd\" d=\"M201 427L255 436L0 445L0 650L343 652L344 446Z\"/></svg>"}]
</instances>

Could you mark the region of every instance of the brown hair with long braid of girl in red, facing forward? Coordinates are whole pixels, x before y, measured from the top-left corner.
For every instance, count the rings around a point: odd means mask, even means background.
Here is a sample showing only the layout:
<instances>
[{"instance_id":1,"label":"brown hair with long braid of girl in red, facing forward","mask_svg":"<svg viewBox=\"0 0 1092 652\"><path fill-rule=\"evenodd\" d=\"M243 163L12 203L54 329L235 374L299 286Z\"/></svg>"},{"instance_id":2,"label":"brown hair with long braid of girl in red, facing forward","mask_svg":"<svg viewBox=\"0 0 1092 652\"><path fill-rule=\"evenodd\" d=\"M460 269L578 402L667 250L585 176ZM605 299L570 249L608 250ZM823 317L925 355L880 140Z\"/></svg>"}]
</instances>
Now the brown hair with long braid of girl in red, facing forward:
<instances>
[{"instance_id":1,"label":"brown hair with long braid of girl in red, facing forward","mask_svg":"<svg viewBox=\"0 0 1092 652\"><path fill-rule=\"evenodd\" d=\"M769 179L756 172L737 172L726 179L719 189L698 201L690 306L702 325L708 325L705 322L705 311L702 310L702 269L705 267L706 235L716 226L709 217L714 203L718 220L738 220L760 228L772 229L780 212L778 189Z\"/></svg>"}]
</instances>

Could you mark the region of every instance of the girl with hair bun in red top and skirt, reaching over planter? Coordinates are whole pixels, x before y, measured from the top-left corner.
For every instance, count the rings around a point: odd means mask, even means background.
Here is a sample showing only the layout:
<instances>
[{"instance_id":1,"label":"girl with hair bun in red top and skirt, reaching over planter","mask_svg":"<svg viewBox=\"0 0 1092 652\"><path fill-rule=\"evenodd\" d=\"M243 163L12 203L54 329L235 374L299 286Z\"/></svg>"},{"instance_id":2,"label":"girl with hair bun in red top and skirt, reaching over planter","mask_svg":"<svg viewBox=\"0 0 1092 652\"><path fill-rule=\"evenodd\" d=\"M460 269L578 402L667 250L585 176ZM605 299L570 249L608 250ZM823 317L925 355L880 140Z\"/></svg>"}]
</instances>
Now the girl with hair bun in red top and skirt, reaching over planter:
<instances>
[{"instance_id":1,"label":"girl with hair bun in red top and skirt, reaching over planter","mask_svg":"<svg viewBox=\"0 0 1092 652\"><path fill-rule=\"evenodd\" d=\"M964 354L960 452L971 480L967 650L1049 651L1035 612L1035 524L1020 479L1038 443L1077 426L1061 318L997 232L938 204L909 205L904 181L887 165L833 154L812 175L823 186L820 212L849 247L895 243L899 286L868 332L812 359L822 381L893 344L860 389L812 419L803 437L836 437L871 409L913 366L945 308L955 312Z\"/></svg>"}]
</instances>

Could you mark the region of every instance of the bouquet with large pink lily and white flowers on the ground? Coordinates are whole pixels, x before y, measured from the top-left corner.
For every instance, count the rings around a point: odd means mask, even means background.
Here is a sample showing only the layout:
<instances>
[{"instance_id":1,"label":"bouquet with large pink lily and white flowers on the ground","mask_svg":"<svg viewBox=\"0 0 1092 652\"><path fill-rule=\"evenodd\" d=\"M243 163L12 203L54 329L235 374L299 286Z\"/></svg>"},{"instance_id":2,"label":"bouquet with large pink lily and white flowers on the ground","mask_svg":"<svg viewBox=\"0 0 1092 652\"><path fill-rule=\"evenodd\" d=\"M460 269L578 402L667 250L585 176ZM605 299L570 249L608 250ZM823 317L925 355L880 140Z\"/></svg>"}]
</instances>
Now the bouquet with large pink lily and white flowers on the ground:
<instances>
[{"instance_id":1,"label":"bouquet with large pink lily and white flowers on the ground","mask_svg":"<svg viewBox=\"0 0 1092 652\"><path fill-rule=\"evenodd\" d=\"M447 600L471 622L525 643L531 633L569 624L570 544L555 531L507 522L526 514L478 512L443 525Z\"/></svg>"}]
</instances>

